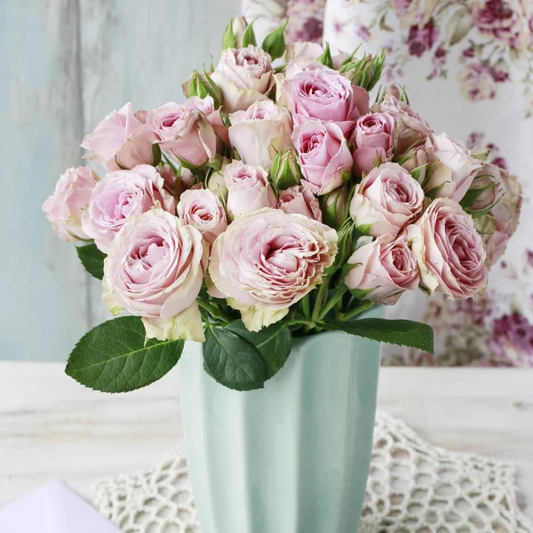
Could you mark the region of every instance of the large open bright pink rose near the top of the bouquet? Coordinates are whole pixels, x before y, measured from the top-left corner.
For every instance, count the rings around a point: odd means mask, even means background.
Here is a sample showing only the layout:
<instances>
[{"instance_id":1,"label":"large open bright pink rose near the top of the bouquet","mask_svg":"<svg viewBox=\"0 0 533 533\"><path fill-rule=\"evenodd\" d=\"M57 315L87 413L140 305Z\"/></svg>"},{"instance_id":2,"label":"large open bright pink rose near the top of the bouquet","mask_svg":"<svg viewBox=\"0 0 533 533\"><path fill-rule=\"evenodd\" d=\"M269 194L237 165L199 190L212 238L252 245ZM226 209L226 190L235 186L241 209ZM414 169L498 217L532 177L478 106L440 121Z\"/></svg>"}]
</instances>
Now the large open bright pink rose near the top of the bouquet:
<instances>
[{"instance_id":1,"label":"large open bright pink rose near the top of the bouquet","mask_svg":"<svg viewBox=\"0 0 533 533\"><path fill-rule=\"evenodd\" d=\"M290 110L295 124L310 119L333 122L347 137L355 121L369 112L369 93L330 68L314 68L290 80Z\"/></svg>"}]
</instances>

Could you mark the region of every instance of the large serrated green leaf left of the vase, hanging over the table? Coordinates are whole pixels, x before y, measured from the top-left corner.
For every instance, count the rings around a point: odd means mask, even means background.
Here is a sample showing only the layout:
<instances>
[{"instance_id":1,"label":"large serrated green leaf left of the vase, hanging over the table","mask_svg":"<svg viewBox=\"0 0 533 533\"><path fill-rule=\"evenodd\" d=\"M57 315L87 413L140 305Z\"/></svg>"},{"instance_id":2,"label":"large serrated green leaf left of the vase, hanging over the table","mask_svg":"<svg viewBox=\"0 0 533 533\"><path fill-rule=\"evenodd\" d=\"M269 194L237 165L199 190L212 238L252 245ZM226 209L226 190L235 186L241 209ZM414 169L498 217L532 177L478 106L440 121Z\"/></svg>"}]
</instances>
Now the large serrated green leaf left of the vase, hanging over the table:
<instances>
[{"instance_id":1,"label":"large serrated green leaf left of the vase, hanging over the table","mask_svg":"<svg viewBox=\"0 0 533 533\"><path fill-rule=\"evenodd\" d=\"M171 370L183 340L146 341L138 316L123 316L96 326L82 337L70 356L71 378L103 393L125 393L154 383Z\"/></svg>"}]
</instances>

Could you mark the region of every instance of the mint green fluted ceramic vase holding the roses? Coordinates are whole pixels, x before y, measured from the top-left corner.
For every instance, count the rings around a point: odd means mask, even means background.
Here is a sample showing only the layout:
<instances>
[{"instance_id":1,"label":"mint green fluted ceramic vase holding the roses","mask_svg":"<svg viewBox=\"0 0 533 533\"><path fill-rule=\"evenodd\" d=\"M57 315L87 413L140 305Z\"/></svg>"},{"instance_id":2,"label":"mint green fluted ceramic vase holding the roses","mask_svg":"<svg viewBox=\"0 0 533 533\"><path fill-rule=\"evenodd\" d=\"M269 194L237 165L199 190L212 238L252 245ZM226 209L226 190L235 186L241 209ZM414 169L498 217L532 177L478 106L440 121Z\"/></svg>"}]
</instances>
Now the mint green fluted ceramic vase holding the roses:
<instances>
[{"instance_id":1,"label":"mint green fluted ceramic vase holding the roses","mask_svg":"<svg viewBox=\"0 0 533 533\"><path fill-rule=\"evenodd\" d=\"M356 533L379 344L341 332L295 338L282 370L248 393L220 386L203 371L202 345L188 345L182 413L203 533Z\"/></svg>"}]
</instances>

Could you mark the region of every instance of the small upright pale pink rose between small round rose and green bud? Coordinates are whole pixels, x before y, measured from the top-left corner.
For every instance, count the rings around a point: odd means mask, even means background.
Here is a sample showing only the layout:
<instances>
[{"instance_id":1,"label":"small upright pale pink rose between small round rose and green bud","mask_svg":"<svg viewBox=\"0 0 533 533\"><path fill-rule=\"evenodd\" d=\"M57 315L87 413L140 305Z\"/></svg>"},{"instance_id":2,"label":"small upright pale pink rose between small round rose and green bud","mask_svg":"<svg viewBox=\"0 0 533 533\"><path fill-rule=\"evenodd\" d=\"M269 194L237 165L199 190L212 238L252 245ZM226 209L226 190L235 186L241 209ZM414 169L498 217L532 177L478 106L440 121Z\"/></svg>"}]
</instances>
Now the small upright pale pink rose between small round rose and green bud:
<instances>
[{"instance_id":1,"label":"small upright pale pink rose between small round rose and green bud","mask_svg":"<svg viewBox=\"0 0 533 533\"><path fill-rule=\"evenodd\" d=\"M224 169L224 180L226 208L232 219L264 207L277 206L277 198L268 183L268 172L263 167L234 161Z\"/></svg>"}]
</instances>

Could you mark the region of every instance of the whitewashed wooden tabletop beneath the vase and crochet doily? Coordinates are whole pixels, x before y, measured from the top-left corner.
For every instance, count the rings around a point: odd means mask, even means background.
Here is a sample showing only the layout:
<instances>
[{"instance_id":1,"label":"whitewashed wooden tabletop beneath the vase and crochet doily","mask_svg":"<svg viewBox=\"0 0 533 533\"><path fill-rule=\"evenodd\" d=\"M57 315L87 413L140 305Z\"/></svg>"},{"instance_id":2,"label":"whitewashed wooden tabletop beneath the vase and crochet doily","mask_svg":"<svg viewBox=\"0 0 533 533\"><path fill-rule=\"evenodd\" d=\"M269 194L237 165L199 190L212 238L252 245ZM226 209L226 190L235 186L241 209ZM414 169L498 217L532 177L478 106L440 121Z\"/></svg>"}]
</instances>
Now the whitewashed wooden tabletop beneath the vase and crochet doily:
<instances>
[{"instance_id":1,"label":"whitewashed wooden tabletop beneath the vase and crochet doily","mask_svg":"<svg viewBox=\"0 0 533 533\"><path fill-rule=\"evenodd\" d=\"M177 370L131 394L99 394L60 363L0 362L0 505L61 478L91 484L158 461L182 438ZM384 368L379 409L447 449L519 468L533 518L533 370Z\"/></svg>"}]
</instances>

